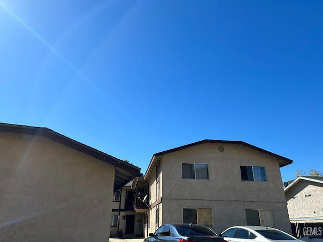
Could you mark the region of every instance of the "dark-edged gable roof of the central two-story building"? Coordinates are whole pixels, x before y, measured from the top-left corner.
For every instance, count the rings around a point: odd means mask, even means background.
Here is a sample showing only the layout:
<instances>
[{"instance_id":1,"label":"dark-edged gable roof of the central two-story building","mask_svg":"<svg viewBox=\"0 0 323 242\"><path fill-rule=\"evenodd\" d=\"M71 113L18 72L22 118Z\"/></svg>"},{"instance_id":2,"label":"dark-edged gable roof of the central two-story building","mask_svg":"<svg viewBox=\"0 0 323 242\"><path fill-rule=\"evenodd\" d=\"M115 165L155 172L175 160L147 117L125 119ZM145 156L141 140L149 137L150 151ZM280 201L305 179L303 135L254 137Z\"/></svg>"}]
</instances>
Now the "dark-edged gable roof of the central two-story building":
<instances>
[{"instance_id":1,"label":"dark-edged gable roof of the central two-story building","mask_svg":"<svg viewBox=\"0 0 323 242\"><path fill-rule=\"evenodd\" d=\"M278 160L278 162L279 162L279 167L283 167L285 165L289 165L289 164L293 163L293 160L291 160L291 159L288 159L288 158L285 158L283 156L274 154L274 153L272 153L270 151L266 151L264 149L261 149L259 147L250 145L250 144L245 143L243 141L201 140L201 141L198 141L198 142L195 142L195 143L192 143L192 144L183 145L183 146L180 146L180 147L177 147L177 148L174 148L174 149L170 149L170 150L166 150L166 151L162 151L162 152L153 154L153 156L151 158L151 161L149 163L149 166L147 168L147 171L146 171L146 173L144 175L144 179L146 179L147 177L149 177L151 175L151 173L153 172L153 169L155 167L155 164L161 158L161 156L163 156L165 154L172 153L172 152L176 152L176 151L179 151L179 150L187 149L187 148L190 148L192 146L201 145L201 144L204 144L204 143L233 144L233 145L241 145L243 147L248 147L250 149L258 151L259 153L263 153L263 154L266 154L266 155L269 155L269 156L272 156L272 157L276 158Z\"/></svg>"}]
</instances>

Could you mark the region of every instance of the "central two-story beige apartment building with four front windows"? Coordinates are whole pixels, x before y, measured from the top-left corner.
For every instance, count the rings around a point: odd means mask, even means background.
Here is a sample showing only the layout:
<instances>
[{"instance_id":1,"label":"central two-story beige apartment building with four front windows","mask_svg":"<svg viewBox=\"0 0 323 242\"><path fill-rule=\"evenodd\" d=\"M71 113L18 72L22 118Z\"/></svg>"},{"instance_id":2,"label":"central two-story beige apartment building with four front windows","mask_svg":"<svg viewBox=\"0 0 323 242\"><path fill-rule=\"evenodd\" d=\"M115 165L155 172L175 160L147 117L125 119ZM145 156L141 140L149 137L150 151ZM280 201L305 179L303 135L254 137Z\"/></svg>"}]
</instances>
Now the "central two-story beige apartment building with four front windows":
<instances>
[{"instance_id":1,"label":"central two-story beige apartment building with four front windows","mask_svg":"<svg viewBox=\"0 0 323 242\"><path fill-rule=\"evenodd\" d=\"M291 232L280 167L292 160L241 141L202 140L152 156L144 236L165 223L233 225Z\"/></svg>"}]
</instances>

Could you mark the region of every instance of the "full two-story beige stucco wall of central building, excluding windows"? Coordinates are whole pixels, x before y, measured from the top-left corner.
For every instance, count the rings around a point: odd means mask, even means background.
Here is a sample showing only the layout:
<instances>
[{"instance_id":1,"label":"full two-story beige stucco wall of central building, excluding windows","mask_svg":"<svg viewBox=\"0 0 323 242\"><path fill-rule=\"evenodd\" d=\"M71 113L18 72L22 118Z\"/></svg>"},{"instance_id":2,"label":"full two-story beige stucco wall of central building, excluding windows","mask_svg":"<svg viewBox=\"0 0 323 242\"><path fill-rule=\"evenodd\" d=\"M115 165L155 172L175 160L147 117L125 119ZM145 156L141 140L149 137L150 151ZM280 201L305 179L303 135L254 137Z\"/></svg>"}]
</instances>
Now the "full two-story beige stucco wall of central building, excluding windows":
<instances>
[{"instance_id":1,"label":"full two-story beige stucco wall of central building, excluding windows","mask_svg":"<svg viewBox=\"0 0 323 242\"><path fill-rule=\"evenodd\" d=\"M225 150L220 152L219 145L205 143L163 156L160 161L163 216L160 220L183 222L183 208L211 208L211 228L222 232L229 226L245 225L245 209L265 209L273 211L277 228L291 233L278 161L238 145L222 144ZM182 179L182 163L208 164L209 179ZM265 166L267 181L242 181L240 165ZM149 184L153 185L153 178ZM151 193L153 191L154 186L151 186ZM150 216L154 230L153 211Z\"/></svg>"}]
</instances>

